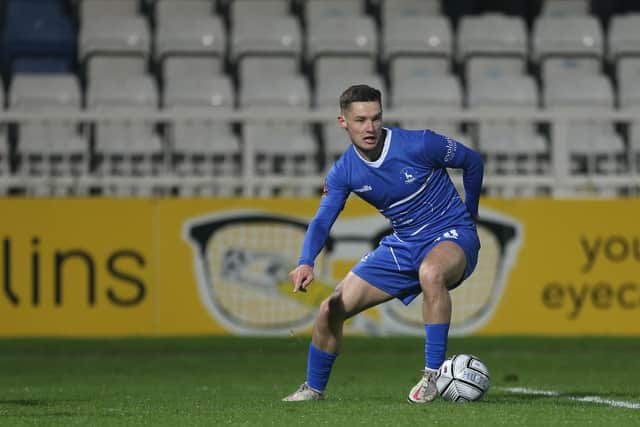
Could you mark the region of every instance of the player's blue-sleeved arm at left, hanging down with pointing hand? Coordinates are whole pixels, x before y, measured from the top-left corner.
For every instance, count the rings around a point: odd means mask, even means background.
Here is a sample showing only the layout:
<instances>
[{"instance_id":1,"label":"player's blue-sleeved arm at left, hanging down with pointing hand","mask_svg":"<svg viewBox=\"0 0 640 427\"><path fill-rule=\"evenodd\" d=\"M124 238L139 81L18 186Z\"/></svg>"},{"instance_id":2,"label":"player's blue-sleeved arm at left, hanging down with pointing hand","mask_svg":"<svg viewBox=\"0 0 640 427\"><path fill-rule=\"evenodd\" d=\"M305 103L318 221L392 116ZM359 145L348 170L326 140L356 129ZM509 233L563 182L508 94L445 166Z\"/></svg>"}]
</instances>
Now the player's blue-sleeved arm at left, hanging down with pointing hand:
<instances>
[{"instance_id":1,"label":"player's blue-sleeved arm at left, hanging down with pointing hand","mask_svg":"<svg viewBox=\"0 0 640 427\"><path fill-rule=\"evenodd\" d=\"M304 292L313 281L315 259L324 247L333 223L344 208L349 191L337 182L339 181L335 179L334 174L330 173L320 207L307 227L298 266L289 273L294 293Z\"/></svg>"}]
</instances>

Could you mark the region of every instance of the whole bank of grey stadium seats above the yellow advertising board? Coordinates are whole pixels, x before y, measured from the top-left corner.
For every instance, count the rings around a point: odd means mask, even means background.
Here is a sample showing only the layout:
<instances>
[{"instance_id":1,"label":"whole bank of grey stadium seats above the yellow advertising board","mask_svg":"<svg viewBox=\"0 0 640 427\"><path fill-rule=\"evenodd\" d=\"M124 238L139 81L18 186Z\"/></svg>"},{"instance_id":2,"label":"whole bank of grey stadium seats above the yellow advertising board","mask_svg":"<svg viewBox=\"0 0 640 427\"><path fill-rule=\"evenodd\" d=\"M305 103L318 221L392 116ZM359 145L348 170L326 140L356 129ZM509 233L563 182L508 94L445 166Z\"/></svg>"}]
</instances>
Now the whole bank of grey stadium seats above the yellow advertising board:
<instances>
[{"instance_id":1,"label":"whole bank of grey stadium seats above the yellow advertising board","mask_svg":"<svg viewBox=\"0 0 640 427\"><path fill-rule=\"evenodd\" d=\"M10 17L37 18L42 10L51 9L52 22L71 17L62 1L45 9L39 9L44 0L7 1L7 28ZM279 108L335 115L339 93L356 82L381 88L385 108L425 114L541 108L578 110L586 118L640 107L640 15L614 16L605 37L584 1L544 2L529 28L522 17L491 13L464 16L455 31L438 1L75 3L77 53L75 39L71 56L55 43L34 43L34 34L42 35L35 24L24 27L35 28L25 36L31 44L5 43L13 69L0 91L7 111L215 117ZM76 55L78 67L70 65ZM474 146L489 173L543 174L553 152L548 126L527 121L398 124L433 128ZM347 141L333 123L0 123L0 174L238 176L246 145L255 147L249 164L258 175L295 177L322 172ZM572 174L640 170L635 124L576 122L567 146Z\"/></svg>"}]
</instances>

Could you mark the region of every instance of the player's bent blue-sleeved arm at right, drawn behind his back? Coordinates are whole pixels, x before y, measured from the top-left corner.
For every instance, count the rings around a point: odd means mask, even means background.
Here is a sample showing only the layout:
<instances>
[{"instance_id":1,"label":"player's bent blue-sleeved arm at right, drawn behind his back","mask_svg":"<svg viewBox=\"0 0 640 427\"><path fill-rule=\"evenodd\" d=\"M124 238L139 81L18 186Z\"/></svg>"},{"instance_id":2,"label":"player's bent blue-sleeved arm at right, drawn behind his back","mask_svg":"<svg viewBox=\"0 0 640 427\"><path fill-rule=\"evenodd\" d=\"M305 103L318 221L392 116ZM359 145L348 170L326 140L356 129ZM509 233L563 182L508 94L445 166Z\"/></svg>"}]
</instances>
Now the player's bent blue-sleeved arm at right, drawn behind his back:
<instances>
[{"instance_id":1,"label":"player's bent blue-sleeved arm at right, drawn behind his back","mask_svg":"<svg viewBox=\"0 0 640 427\"><path fill-rule=\"evenodd\" d=\"M425 131L427 156L433 164L462 169L464 203L471 217L478 217L484 164L480 154L464 144L431 131Z\"/></svg>"}]
</instances>

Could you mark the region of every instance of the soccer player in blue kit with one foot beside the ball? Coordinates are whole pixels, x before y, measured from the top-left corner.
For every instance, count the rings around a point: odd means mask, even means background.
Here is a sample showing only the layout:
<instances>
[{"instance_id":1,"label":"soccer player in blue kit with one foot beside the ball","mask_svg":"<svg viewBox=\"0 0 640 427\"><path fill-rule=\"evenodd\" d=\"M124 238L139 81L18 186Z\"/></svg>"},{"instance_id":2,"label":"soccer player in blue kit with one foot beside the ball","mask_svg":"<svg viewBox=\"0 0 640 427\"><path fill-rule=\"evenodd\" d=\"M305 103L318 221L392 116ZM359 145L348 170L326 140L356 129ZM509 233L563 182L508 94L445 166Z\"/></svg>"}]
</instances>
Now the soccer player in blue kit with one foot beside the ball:
<instances>
[{"instance_id":1,"label":"soccer player in blue kit with one foot beside the ball","mask_svg":"<svg viewBox=\"0 0 640 427\"><path fill-rule=\"evenodd\" d=\"M307 229L293 292L305 292L314 260L354 192L375 206L393 233L366 254L320 304L307 359L307 379L285 401L322 400L340 352L346 319L392 298L409 304L423 294L425 370L409 402L436 397L435 373L444 362L451 298L475 268L480 241L474 219L482 186L480 155L430 130L385 128L379 90L355 85L340 96L338 125L351 146L329 171L320 206ZM446 168L463 170L464 202Z\"/></svg>"}]
</instances>

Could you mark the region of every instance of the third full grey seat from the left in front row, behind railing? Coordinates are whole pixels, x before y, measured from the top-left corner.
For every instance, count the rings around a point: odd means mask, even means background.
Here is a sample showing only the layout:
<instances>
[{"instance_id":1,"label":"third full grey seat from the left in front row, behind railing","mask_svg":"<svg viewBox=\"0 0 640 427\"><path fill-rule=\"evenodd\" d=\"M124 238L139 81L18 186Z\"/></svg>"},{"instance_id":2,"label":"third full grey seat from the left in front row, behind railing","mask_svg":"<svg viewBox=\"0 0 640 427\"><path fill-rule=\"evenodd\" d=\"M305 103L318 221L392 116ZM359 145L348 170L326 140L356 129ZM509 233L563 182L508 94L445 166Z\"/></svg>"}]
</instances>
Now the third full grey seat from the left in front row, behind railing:
<instances>
[{"instance_id":1,"label":"third full grey seat from the left in front row, behind railing","mask_svg":"<svg viewBox=\"0 0 640 427\"><path fill-rule=\"evenodd\" d=\"M167 112L211 114L233 111L233 86L226 76L169 79L163 92ZM177 121L168 128L172 168L181 176L233 176L240 172L240 144L230 123L206 119ZM181 194L231 195L215 184L181 188Z\"/></svg>"}]
</instances>

